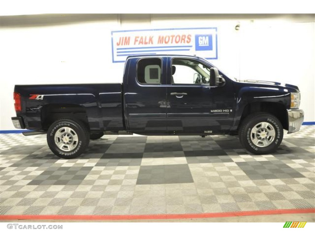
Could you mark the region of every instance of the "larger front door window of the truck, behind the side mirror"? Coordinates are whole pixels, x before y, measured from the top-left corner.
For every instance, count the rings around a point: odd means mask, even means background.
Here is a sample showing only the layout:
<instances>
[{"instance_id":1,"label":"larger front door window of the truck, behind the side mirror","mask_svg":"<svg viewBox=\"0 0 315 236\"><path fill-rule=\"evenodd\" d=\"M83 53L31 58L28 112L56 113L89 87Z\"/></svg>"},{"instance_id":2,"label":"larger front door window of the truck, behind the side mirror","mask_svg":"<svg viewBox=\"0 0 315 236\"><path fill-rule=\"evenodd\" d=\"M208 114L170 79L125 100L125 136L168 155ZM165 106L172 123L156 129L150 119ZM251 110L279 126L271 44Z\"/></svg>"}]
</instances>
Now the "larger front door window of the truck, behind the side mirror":
<instances>
[{"instance_id":1,"label":"larger front door window of the truck, behind the side mirror","mask_svg":"<svg viewBox=\"0 0 315 236\"><path fill-rule=\"evenodd\" d=\"M173 59L172 84L209 84L210 71L198 61Z\"/></svg>"}]
</instances>

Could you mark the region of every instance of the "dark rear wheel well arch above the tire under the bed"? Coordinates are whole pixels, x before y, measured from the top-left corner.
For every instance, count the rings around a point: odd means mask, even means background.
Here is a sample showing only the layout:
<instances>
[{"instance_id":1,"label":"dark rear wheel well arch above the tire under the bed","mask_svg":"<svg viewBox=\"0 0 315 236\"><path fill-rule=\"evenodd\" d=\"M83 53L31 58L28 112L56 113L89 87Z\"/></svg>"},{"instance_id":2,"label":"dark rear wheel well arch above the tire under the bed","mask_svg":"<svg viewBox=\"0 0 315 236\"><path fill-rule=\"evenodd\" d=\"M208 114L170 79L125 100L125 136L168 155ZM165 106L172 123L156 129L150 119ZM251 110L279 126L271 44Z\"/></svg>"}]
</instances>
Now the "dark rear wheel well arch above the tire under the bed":
<instances>
[{"instance_id":1,"label":"dark rear wheel well arch above the tire under the bed","mask_svg":"<svg viewBox=\"0 0 315 236\"><path fill-rule=\"evenodd\" d=\"M89 122L86 110L77 104L47 104L41 109L41 121L43 130L56 120L68 118L81 121L89 130Z\"/></svg>"}]
</instances>

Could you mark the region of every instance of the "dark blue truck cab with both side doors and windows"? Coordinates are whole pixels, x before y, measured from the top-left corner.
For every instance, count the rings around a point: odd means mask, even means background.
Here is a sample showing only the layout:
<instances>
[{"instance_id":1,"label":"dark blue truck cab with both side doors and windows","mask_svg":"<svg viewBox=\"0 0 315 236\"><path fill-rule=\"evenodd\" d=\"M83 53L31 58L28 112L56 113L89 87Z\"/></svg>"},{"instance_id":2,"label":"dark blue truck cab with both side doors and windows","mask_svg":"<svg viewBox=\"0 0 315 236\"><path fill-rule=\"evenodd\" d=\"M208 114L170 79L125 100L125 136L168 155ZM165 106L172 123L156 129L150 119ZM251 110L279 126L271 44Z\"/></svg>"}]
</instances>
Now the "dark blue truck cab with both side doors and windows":
<instances>
[{"instance_id":1,"label":"dark blue truck cab with both side doors and windows","mask_svg":"<svg viewBox=\"0 0 315 236\"><path fill-rule=\"evenodd\" d=\"M139 56L129 57L126 68L124 114L130 131L199 135L232 127L233 82L220 73L222 81L210 84L215 75L209 62L191 56Z\"/></svg>"}]
</instances>

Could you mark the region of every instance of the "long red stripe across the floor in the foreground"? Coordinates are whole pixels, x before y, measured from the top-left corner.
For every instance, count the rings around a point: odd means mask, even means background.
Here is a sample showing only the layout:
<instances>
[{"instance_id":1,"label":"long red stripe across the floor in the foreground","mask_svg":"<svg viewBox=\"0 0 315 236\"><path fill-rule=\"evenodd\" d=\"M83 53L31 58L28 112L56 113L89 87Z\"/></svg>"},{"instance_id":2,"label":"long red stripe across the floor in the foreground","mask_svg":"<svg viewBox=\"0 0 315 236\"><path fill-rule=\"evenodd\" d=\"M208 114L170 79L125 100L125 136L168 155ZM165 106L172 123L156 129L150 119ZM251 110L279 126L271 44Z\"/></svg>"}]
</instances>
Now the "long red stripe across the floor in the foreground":
<instances>
[{"instance_id":1,"label":"long red stripe across the floor in the foreground","mask_svg":"<svg viewBox=\"0 0 315 236\"><path fill-rule=\"evenodd\" d=\"M315 213L314 208L283 209L267 211L238 211L203 214L170 214L170 215L117 215L117 216L89 216L89 215L3 215L0 220L161 220L161 219L187 219L187 218L218 218L233 216L261 216L279 214Z\"/></svg>"}]
</instances>

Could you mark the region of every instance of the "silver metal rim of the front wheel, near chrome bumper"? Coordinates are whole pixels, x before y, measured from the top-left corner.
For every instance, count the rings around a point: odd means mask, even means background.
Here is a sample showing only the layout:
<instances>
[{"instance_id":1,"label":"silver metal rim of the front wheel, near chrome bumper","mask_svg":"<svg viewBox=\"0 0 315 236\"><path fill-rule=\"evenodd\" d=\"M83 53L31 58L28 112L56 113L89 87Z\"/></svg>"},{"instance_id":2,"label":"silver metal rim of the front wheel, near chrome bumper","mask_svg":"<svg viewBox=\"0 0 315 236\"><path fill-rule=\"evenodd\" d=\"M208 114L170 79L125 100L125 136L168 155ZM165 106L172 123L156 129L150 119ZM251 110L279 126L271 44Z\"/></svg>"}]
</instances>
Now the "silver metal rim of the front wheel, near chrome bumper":
<instances>
[{"instance_id":1,"label":"silver metal rim of the front wheel, near chrome bumper","mask_svg":"<svg viewBox=\"0 0 315 236\"><path fill-rule=\"evenodd\" d=\"M259 122L250 131L250 139L261 148L268 147L275 139L276 131L272 124L268 122Z\"/></svg>"}]
</instances>

